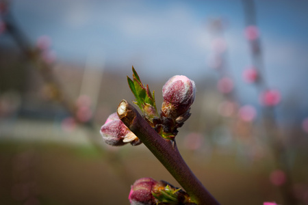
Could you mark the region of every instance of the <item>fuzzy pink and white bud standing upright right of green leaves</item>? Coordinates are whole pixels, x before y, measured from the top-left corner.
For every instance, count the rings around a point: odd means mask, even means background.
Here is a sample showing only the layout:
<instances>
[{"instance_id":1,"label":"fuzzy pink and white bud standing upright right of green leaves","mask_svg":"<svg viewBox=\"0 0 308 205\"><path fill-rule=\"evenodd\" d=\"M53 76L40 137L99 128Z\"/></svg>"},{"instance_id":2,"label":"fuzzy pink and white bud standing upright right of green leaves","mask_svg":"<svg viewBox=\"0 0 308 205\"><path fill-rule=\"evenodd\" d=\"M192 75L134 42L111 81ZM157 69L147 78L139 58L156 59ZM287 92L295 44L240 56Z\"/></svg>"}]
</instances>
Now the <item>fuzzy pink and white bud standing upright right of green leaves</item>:
<instances>
[{"instance_id":1,"label":"fuzzy pink and white bud standing upright right of green leaves","mask_svg":"<svg viewBox=\"0 0 308 205\"><path fill-rule=\"evenodd\" d=\"M194 102L196 85L188 77L176 75L165 83L162 93L162 112L167 117L177 118L190 109Z\"/></svg>"}]
</instances>

